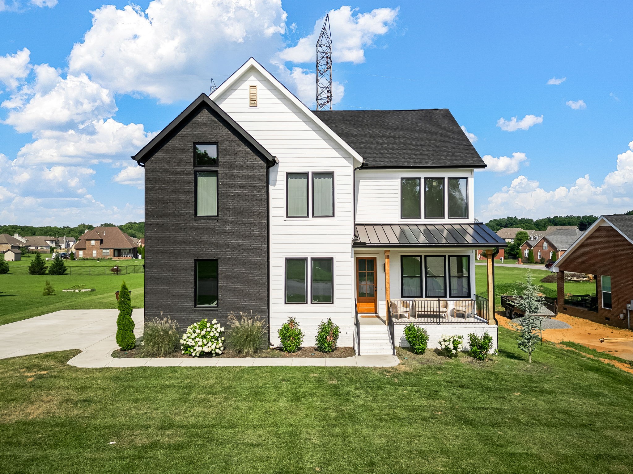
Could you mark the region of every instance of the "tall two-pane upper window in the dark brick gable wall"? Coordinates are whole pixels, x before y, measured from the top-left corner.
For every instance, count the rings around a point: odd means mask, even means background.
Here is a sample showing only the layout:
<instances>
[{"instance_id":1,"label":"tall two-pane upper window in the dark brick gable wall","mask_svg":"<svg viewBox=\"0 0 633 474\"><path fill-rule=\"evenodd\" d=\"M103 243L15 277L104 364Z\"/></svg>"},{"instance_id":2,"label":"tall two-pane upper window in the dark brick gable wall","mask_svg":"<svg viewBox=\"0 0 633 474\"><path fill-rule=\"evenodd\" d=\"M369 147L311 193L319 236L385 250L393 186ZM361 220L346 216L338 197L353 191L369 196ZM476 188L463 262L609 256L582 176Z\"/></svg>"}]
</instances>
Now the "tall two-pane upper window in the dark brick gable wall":
<instances>
[{"instance_id":1,"label":"tall two-pane upper window in the dark brick gable wall","mask_svg":"<svg viewBox=\"0 0 633 474\"><path fill-rule=\"evenodd\" d=\"M196 217L218 217L218 143L194 144Z\"/></svg>"}]
</instances>

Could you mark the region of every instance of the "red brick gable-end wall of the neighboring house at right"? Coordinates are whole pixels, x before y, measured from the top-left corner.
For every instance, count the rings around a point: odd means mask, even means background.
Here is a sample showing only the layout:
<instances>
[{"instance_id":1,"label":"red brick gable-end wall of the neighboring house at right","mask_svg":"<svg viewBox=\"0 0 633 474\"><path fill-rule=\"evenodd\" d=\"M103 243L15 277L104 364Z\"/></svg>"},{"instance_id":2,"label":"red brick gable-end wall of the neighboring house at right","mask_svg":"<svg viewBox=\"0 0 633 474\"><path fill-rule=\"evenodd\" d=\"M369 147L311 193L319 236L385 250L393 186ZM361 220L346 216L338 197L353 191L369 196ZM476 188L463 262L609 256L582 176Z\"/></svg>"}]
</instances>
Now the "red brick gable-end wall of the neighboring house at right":
<instances>
[{"instance_id":1,"label":"red brick gable-end wall of the neighboring house at right","mask_svg":"<svg viewBox=\"0 0 633 474\"><path fill-rule=\"evenodd\" d=\"M611 226L599 226L587 236L576 250L560 264L558 276L558 300L563 301L562 272L588 273L596 276L596 295L598 296L598 313L563 308L574 316L587 317L597 322L627 327L626 319L620 320L618 315L626 315L627 303L633 298L633 245L622 234ZM602 307L601 281L602 275L611 277L611 307ZM559 304L559 308L562 306Z\"/></svg>"}]
</instances>

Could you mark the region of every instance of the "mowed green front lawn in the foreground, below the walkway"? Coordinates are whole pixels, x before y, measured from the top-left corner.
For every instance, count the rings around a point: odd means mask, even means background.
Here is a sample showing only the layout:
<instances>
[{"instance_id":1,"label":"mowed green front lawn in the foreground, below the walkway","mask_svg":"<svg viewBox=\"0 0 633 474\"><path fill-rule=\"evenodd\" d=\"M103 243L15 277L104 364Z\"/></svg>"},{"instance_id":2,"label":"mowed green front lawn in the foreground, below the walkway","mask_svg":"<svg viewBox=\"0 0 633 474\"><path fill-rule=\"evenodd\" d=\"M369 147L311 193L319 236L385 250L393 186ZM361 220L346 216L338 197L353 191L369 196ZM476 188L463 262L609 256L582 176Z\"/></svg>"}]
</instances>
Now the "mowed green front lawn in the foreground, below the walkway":
<instances>
[{"instance_id":1,"label":"mowed green front lawn in the foreground, below the walkway","mask_svg":"<svg viewBox=\"0 0 633 474\"><path fill-rule=\"evenodd\" d=\"M633 376L551 344L529 365L499 331L486 363L405 351L394 368L0 360L0 471L630 472Z\"/></svg>"}]
</instances>

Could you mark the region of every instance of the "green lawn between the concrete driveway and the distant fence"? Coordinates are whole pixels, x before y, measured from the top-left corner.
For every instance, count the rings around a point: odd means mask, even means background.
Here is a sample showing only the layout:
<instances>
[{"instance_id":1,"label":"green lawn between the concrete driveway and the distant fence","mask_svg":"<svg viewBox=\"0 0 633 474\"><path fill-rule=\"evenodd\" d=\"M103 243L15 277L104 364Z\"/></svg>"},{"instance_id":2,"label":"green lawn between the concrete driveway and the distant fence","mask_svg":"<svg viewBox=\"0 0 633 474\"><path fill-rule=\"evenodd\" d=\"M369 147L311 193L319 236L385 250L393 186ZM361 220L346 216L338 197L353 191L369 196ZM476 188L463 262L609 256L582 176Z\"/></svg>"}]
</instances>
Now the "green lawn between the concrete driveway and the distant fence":
<instances>
[{"instance_id":1,"label":"green lawn between the concrete driveway and the distant fence","mask_svg":"<svg viewBox=\"0 0 633 474\"><path fill-rule=\"evenodd\" d=\"M144 274L116 276L0 275L0 325L58 310L116 308L115 291L125 280L132 290L132 306L144 305ZM46 280L54 295L43 296ZM84 284L90 293L63 293L64 288Z\"/></svg>"}]
</instances>

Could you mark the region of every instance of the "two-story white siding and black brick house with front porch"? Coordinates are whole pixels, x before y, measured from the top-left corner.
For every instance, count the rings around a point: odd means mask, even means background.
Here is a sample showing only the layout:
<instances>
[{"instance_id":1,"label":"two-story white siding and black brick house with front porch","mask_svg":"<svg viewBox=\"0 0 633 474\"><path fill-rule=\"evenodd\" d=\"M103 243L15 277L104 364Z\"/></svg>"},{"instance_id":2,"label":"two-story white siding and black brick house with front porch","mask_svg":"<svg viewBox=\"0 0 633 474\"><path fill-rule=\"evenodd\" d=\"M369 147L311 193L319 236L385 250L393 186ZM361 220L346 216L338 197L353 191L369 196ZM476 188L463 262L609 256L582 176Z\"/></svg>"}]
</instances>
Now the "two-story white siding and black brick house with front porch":
<instances>
[{"instance_id":1,"label":"two-story white siding and black brick house with front porch","mask_svg":"<svg viewBox=\"0 0 633 474\"><path fill-rule=\"evenodd\" d=\"M431 346L496 337L475 251L506 243L475 222L486 165L446 109L314 112L251 58L132 158L145 168L147 319L253 310L271 344L295 317L313 346L331 318L361 354L392 353L408 322ZM187 252L169 260L174 233Z\"/></svg>"}]
</instances>

